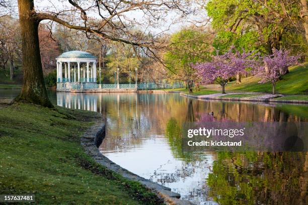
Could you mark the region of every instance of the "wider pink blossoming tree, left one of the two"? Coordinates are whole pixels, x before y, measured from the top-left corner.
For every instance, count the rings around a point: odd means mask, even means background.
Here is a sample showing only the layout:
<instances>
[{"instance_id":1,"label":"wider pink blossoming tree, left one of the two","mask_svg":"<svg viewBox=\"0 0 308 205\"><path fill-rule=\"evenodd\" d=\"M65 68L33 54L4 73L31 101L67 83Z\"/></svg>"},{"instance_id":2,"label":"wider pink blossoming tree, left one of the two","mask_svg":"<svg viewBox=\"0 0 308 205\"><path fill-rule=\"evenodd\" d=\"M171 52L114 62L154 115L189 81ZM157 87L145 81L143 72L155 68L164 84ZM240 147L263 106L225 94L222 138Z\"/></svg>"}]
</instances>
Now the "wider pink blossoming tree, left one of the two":
<instances>
[{"instance_id":1,"label":"wider pink blossoming tree, left one of the two","mask_svg":"<svg viewBox=\"0 0 308 205\"><path fill-rule=\"evenodd\" d=\"M220 84L221 93L225 93L224 86L230 77L246 72L248 67L254 68L259 65L259 61L254 60L258 54L233 50L234 48L223 55L218 55L217 52L217 55L212 57L212 61L194 65L203 82Z\"/></svg>"}]
</instances>

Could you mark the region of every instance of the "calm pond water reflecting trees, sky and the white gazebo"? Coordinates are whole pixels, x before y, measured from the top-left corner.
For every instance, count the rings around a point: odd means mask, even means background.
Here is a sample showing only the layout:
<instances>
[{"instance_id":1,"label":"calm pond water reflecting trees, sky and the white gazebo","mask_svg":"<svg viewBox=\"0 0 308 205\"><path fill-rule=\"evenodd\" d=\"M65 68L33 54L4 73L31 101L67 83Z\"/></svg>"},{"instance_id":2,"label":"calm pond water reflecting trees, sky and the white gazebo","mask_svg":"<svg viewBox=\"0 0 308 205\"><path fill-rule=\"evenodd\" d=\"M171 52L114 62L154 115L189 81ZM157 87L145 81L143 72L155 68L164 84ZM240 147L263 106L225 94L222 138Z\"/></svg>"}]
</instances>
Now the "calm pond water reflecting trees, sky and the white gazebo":
<instances>
[{"instance_id":1,"label":"calm pond water reflecting trees, sky and the white gazebo","mask_svg":"<svg viewBox=\"0 0 308 205\"><path fill-rule=\"evenodd\" d=\"M184 199L197 204L307 202L307 152L187 151L180 135L187 121L307 122L307 105L202 101L178 93L49 95L58 106L102 113L107 129L100 151Z\"/></svg>"}]
</instances>

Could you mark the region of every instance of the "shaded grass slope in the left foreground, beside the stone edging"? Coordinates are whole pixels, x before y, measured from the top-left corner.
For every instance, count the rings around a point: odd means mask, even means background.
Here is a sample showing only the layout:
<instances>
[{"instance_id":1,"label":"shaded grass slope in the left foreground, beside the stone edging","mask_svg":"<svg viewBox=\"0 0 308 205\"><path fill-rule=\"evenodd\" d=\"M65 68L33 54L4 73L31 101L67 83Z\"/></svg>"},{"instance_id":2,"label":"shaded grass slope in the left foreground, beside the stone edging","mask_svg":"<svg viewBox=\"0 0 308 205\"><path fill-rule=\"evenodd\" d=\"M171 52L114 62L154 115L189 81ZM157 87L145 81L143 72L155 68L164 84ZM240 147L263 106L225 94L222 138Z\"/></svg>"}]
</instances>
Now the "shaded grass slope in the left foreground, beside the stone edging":
<instances>
[{"instance_id":1,"label":"shaded grass slope in the left foreground, beside the stone edging","mask_svg":"<svg viewBox=\"0 0 308 205\"><path fill-rule=\"evenodd\" d=\"M0 193L38 204L158 204L157 196L96 163L80 136L97 114L15 104L0 109Z\"/></svg>"}]
</instances>

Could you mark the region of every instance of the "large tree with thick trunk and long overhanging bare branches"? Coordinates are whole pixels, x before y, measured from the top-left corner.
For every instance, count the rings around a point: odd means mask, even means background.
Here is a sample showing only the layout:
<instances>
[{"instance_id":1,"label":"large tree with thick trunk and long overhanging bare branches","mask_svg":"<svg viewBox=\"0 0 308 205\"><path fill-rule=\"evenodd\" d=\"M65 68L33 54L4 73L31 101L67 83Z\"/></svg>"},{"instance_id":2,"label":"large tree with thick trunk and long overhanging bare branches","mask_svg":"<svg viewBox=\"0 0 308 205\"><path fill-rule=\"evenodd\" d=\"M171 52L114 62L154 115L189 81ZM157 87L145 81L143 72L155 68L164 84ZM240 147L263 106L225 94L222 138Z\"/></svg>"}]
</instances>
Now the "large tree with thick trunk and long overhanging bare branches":
<instances>
[{"instance_id":1,"label":"large tree with thick trunk and long overhanging bare branches","mask_svg":"<svg viewBox=\"0 0 308 205\"><path fill-rule=\"evenodd\" d=\"M131 33L129 27L138 26L147 32L149 27L164 24L164 18L172 11L183 18L194 13L191 3L185 0L68 0L64 3L69 5L61 8L53 4L53 8L36 9L33 0L18 0L24 84L16 100L52 107L44 85L40 57L38 26L41 21L50 20L83 31L89 38L95 35L133 46L157 48L161 43L157 38L159 34ZM142 13L142 18L135 18L136 12Z\"/></svg>"}]
</instances>

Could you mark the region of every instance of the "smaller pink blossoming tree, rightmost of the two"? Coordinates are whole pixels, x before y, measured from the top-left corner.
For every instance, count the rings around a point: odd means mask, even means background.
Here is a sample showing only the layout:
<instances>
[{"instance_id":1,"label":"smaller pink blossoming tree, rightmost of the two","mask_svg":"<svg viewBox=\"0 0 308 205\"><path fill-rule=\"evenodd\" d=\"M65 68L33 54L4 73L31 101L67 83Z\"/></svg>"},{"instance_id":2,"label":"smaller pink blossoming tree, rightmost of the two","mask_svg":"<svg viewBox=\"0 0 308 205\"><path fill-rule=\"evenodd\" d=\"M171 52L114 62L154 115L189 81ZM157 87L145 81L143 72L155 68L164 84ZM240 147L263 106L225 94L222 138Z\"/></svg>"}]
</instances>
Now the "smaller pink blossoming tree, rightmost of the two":
<instances>
[{"instance_id":1,"label":"smaller pink blossoming tree, rightmost of the two","mask_svg":"<svg viewBox=\"0 0 308 205\"><path fill-rule=\"evenodd\" d=\"M276 83L281 76L287 73L288 67L298 63L299 56L289 56L288 50L275 50L270 56L264 57L264 63L267 69L259 67L255 75L260 77L259 83L272 83L272 93L275 94Z\"/></svg>"}]
</instances>

